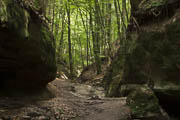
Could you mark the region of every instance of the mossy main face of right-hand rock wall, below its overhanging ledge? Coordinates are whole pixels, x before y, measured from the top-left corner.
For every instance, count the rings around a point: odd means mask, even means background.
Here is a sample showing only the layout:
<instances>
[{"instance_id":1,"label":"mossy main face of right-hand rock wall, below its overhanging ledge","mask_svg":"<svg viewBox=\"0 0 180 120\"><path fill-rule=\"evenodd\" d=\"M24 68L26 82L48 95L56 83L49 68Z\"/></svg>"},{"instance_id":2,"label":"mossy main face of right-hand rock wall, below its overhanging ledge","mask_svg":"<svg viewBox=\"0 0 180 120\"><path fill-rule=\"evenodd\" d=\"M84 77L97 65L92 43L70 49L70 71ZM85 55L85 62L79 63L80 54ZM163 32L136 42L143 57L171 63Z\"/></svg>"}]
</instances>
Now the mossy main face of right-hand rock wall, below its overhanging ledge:
<instances>
[{"instance_id":1,"label":"mossy main face of right-hand rock wall, below its overhanging ledge","mask_svg":"<svg viewBox=\"0 0 180 120\"><path fill-rule=\"evenodd\" d=\"M147 24L144 22L140 28L137 28L138 30L128 31L126 56L122 55L123 48L120 48L109 72L104 77L107 95L120 95L120 87L126 84L148 84L154 89L179 90L180 9L178 4L180 3L176 0L174 3L167 3L166 9L171 13L168 17L159 15L155 22L151 21ZM172 12L169 8L173 5ZM138 17L137 14L135 17ZM145 17L148 16L144 16L144 19Z\"/></svg>"}]
</instances>

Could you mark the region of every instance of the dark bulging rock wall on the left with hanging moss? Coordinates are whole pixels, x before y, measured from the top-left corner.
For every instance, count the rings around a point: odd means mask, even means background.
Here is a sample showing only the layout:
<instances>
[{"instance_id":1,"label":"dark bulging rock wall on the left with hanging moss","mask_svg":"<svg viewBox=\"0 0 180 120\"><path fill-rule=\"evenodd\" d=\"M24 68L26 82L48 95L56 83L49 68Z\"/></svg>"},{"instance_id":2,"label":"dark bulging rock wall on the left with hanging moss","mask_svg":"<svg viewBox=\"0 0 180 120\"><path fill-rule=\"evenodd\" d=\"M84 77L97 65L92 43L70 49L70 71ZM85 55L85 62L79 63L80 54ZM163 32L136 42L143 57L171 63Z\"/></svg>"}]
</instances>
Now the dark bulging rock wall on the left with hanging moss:
<instances>
[{"instance_id":1,"label":"dark bulging rock wall on the left with hanging moss","mask_svg":"<svg viewBox=\"0 0 180 120\"><path fill-rule=\"evenodd\" d=\"M0 87L39 88L55 76L55 47L46 22L14 0L1 0Z\"/></svg>"}]
</instances>

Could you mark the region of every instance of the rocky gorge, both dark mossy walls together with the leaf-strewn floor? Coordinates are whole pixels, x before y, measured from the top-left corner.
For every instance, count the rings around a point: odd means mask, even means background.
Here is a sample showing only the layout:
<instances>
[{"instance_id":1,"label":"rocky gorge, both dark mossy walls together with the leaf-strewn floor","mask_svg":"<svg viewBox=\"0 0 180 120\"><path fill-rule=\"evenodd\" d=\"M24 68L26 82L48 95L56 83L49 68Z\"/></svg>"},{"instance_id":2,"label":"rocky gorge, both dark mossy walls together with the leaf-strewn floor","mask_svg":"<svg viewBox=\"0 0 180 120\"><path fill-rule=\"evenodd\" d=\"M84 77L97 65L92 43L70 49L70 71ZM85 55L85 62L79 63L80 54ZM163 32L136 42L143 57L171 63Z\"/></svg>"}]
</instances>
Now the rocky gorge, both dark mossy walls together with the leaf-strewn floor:
<instances>
[{"instance_id":1,"label":"rocky gorge, both dark mossy walls together with the leaf-strewn floor","mask_svg":"<svg viewBox=\"0 0 180 120\"><path fill-rule=\"evenodd\" d=\"M92 64L80 75L79 82L98 85L94 87L59 78L53 81L56 48L47 19L26 0L0 0L0 89L11 90L8 97L1 91L0 119L7 114L12 119L35 120L179 119L180 1L130 2L127 36L112 62L102 57L102 74L97 76ZM30 95L11 96L13 91L32 89L40 92L35 100L27 100ZM41 95L45 98L39 100Z\"/></svg>"}]
</instances>

